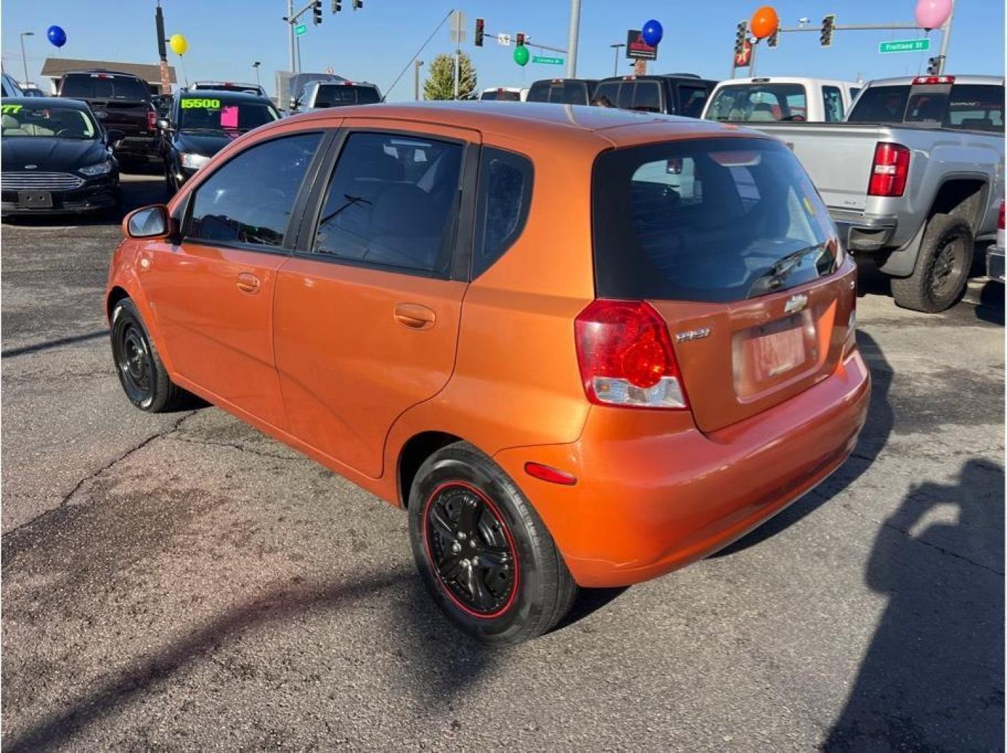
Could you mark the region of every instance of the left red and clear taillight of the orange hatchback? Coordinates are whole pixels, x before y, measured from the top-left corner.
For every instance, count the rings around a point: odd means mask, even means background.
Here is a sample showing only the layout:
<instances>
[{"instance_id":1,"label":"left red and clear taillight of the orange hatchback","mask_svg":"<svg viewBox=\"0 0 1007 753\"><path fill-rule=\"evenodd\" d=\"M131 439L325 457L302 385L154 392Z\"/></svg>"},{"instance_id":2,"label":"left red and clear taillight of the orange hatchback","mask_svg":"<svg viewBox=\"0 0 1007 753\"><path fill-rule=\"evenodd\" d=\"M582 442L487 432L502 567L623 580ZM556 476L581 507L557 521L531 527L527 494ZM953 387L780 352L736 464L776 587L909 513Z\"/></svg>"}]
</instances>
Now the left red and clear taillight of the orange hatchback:
<instances>
[{"instance_id":1,"label":"left red and clear taillight of the orange hatchback","mask_svg":"<svg viewBox=\"0 0 1007 753\"><path fill-rule=\"evenodd\" d=\"M599 299L574 321L577 362L596 405L687 409L668 326L644 301Z\"/></svg>"}]
</instances>

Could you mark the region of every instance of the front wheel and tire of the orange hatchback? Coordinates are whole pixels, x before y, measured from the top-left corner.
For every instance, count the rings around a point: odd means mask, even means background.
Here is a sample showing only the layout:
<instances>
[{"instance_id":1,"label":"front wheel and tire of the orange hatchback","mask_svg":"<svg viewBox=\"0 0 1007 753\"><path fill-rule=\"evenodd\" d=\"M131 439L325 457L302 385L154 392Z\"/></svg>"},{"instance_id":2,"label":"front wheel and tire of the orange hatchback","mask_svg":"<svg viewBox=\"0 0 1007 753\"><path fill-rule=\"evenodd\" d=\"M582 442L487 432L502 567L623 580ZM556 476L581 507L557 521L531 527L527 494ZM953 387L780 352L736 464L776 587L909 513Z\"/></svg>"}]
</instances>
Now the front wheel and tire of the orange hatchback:
<instances>
[{"instance_id":1,"label":"front wheel and tire of the orange hatchback","mask_svg":"<svg viewBox=\"0 0 1007 753\"><path fill-rule=\"evenodd\" d=\"M140 312L129 298L118 301L112 310L112 357L123 392L141 411L174 410L188 395L168 378Z\"/></svg>"}]
</instances>

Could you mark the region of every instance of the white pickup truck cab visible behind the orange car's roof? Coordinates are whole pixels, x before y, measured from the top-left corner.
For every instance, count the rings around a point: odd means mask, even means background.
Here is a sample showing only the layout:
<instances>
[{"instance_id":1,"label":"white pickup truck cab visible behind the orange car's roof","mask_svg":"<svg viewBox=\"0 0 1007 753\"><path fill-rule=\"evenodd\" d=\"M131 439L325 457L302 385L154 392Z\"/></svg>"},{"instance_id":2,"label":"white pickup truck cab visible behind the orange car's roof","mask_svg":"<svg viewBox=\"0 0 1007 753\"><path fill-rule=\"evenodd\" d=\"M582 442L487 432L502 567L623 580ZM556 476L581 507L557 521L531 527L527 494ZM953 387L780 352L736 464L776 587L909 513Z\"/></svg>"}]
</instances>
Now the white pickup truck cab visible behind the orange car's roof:
<instances>
[{"instance_id":1,"label":"white pickup truck cab visible behind the orange car's roof","mask_svg":"<svg viewBox=\"0 0 1007 753\"><path fill-rule=\"evenodd\" d=\"M721 123L838 123L863 86L796 76L728 79L713 90L702 117Z\"/></svg>"}]
</instances>

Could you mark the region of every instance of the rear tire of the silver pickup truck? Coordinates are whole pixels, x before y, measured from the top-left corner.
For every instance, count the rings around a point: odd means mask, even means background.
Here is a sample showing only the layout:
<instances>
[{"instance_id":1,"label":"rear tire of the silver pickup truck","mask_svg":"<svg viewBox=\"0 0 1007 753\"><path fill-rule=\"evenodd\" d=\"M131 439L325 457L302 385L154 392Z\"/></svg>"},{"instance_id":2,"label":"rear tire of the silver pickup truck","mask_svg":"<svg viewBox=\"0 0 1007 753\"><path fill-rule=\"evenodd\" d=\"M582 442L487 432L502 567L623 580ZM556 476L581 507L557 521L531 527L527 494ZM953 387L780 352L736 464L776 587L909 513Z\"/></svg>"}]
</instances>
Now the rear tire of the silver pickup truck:
<instances>
[{"instance_id":1,"label":"rear tire of the silver pickup truck","mask_svg":"<svg viewBox=\"0 0 1007 753\"><path fill-rule=\"evenodd\" d=\"M954 306L969 281L974 250L967 221L953 214L934 214L923 233L912 274L891 281L895 303L929 314Z\"/></svg>"}]
</instances>

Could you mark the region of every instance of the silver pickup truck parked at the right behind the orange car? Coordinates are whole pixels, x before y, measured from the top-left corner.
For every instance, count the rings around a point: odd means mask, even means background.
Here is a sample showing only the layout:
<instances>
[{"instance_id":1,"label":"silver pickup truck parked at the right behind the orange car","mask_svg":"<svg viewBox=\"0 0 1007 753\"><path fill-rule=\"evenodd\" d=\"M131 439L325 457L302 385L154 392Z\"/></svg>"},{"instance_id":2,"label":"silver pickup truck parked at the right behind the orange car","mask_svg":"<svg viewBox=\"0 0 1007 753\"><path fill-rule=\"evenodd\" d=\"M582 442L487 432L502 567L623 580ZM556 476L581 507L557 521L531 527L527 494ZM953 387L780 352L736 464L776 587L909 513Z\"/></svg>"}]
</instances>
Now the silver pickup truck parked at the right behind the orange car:
<instances>
[{"instance_id":1,"label":"silver pickup truck parked at the right behind the orange car","mask_svg":"<svg viewBox=\"0 0 1007 753\"><path fill-rule=\"evenodd\" d=\"M798 155L847 249L891 275L899 306L961 297L1004 197L1004 79L870 82L844 123L748 123Z\"/></svg>"}]
</instances>

